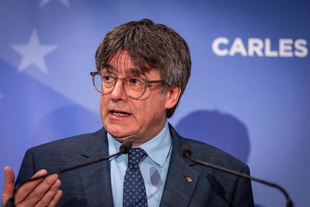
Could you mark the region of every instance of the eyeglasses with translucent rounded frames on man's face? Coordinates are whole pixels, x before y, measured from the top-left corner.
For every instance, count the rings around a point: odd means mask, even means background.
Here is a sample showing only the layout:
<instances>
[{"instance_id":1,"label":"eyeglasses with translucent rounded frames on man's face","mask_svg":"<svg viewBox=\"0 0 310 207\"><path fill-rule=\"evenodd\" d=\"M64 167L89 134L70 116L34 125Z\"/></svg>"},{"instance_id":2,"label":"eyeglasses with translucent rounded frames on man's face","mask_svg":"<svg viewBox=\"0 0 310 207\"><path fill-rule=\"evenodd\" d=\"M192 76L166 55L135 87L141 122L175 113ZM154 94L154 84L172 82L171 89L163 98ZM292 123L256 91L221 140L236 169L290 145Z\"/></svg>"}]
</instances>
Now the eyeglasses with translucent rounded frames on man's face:
<instances>
[{"instance_id":1,"label":"eyeglasses with translucent rounded frames on man's face","mask_svg":"<svg viewBox=\"0 0 310 207\"><path fill-rule=\"evenodd\" d=\"M126 96L139 98L144 95L146 87L151 83L163 83L164 80L147 80L138 76L117 78L110 73L91 72L93 86L101 94L109 94L113 91L118 80L123 81L123 89Z\"/></svg>"}]
</instances>

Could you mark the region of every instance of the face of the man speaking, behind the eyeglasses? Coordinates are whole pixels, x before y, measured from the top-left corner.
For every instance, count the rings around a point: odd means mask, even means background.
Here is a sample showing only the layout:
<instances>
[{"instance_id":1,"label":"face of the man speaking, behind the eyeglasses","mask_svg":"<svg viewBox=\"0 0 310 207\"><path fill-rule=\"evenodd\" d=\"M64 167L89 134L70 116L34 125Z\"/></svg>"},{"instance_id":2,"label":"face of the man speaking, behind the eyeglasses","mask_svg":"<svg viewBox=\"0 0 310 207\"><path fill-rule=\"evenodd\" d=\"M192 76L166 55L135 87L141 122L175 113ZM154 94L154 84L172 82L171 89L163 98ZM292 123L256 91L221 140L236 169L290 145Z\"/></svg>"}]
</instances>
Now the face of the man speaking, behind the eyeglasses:
<instances>
[{"instance_id":1,"label":"face of the man speaking, behind the eyeglasses","mask_svg":"<svg viewBox=\"0 0 310 207\"><path fill-rule=\"evenodd\" d=\"M112 56L108 62L109 67L102 68L115 77L125 78L137 76L132 74L137 67L132 63L126 51ZM161 80L160 74L153 69L141 78L148 80ZM155 137L162 129L166 120L166 109L171 108L169 90L160 94L161 85L152 84L140 98L130 98L125 95L123 81L118 80L113 91L101 94L100 115L106 130L120 142L130 140L133 145L142 143Z\"/></svg>"}]
</instances>

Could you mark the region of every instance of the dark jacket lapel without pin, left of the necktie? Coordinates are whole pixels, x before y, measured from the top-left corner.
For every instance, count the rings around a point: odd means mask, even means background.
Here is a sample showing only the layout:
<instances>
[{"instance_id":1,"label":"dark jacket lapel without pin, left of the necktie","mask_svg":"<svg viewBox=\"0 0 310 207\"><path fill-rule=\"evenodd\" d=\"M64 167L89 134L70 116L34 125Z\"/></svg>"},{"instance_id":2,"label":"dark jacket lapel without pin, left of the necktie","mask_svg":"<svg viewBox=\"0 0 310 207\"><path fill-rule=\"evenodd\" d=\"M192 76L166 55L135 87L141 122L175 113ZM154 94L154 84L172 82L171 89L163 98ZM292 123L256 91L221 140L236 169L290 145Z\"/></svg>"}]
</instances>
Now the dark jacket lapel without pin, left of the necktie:
<instances>
[{"instance_id":1,"label":"dark jacket lapel without pin, left of the necktie","mask_svg":"<svg viewBox=\"0 0 310 207\"><path fill-rule=\"evenodd\" d=\"M107 132L104 128L92 134L81 152L79 163L108 155ZM109 160L78 169L88 206L113 206Z\"/></svg>"}]
</instances>

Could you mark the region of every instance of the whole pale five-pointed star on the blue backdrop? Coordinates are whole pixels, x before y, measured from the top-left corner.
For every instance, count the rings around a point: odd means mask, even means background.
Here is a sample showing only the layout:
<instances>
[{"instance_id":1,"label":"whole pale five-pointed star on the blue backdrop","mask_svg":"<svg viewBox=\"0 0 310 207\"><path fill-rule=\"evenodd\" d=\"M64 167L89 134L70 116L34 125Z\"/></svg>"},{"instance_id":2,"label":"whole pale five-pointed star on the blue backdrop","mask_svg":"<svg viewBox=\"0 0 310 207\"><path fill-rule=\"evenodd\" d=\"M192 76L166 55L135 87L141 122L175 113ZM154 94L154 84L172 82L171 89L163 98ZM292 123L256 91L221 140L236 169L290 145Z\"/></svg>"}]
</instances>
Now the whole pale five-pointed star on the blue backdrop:
<instances>
[{"instance_id":1,"label":"whole pale five-pointed star on the blue backdrop","mask_svg":"<svg viewBox=\"0 0 310 207\"><path fill-rule=\"evenodd\" d=\"M44 56L57 48L57 46L52 45L40 45L36 29L32 31L28 44L14 44L11 47L22 55L18 72L25 70L33 64L45 74L47 74L47 65L45 64Z\"/></svg>"}]
</instances>

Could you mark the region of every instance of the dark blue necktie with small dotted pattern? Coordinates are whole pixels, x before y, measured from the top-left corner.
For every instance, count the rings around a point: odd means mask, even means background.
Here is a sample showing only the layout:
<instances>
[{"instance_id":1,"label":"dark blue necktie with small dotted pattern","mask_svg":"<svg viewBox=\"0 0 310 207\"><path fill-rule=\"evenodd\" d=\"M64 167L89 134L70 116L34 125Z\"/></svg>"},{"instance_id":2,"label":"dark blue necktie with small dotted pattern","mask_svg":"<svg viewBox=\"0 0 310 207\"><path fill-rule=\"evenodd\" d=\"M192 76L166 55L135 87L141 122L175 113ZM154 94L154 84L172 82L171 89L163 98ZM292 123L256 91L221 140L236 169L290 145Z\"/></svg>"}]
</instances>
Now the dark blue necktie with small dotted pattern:
<instances>
[{"instance_id":1,"label":"dark blue necktie with small dotted pattern","mask_svg":"<svg viewBox=\"0 0 310 207\"><path fill-rule=\"evenodd\" d=\"M144 156L147 154L140 147L131 148L128 152L128 166L124 176L123 207L147 206L144 180L138 165Z\"/></svg>"}]
</instances>

